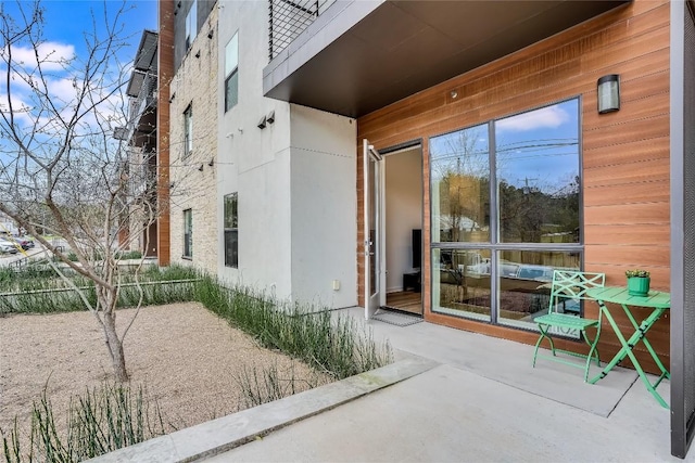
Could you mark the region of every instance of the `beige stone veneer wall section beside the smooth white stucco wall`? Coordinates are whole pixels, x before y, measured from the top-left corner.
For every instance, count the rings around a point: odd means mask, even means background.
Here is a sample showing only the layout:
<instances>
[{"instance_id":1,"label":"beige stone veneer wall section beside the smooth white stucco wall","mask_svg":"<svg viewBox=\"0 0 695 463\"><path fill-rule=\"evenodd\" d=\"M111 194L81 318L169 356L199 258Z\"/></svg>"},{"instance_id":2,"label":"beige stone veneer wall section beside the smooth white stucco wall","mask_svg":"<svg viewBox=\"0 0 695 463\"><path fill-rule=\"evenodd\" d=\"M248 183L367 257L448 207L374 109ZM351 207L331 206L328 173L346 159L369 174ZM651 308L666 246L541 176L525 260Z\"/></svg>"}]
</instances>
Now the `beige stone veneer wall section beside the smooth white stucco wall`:
<instances>
[{"instance_id":1,"label":"beige stone veneer wall section beside the smooth white stucco wall","mask_svg":"<svg viewBox=\"0 0 695 463\"><path fill-rule=\"evenodd\" d=\"M172 80L170 246L172 262L187 263L216 273L216 162L217 162L217 9L214 8ZM210 34L213 30L213 34ZM193 149L184 157L184 112L193 114ZM213 164L212 166L210 164ZM202 166L202 171L200 170ZM184 254L184 210L193 215L192 259Z\"/></svg>"}]
</instances>

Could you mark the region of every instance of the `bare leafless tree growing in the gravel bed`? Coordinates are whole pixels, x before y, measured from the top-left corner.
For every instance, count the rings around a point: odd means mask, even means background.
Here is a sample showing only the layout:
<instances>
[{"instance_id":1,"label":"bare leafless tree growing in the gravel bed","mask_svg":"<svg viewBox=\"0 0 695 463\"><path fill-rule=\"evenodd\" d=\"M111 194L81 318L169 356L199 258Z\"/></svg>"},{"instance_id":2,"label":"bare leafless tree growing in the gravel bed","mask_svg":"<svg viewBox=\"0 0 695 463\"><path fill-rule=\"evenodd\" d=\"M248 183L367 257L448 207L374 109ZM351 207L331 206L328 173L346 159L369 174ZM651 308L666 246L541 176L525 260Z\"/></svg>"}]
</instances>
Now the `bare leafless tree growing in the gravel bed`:
<instances>
[{"instance_id":1,"label":"bare leafless tree growing in the gravel bed","mask_svg":"<svg viewBox=\"0 0 695 463\"><path fill-rule=\"evenodd\" d=\"M116 380L125 382L123 340L135 317L116 330L118 256L130 245L123 236L135 239L157 210L148 187L151 170L141 165L147 156L132 156L114 138L128 123L123 92L128 74L118 52L130 38L123 30L127 5L109 11L106 3L114 5L104 2L103 13L92 12L83 34L86 52L79 55L45 38L38 1L17 2L12 14L0 5L0 211L93 282L96 304L80 297L103 330ZM60 235L65 246L39 230Z\"/></svg>"}]
</instances>

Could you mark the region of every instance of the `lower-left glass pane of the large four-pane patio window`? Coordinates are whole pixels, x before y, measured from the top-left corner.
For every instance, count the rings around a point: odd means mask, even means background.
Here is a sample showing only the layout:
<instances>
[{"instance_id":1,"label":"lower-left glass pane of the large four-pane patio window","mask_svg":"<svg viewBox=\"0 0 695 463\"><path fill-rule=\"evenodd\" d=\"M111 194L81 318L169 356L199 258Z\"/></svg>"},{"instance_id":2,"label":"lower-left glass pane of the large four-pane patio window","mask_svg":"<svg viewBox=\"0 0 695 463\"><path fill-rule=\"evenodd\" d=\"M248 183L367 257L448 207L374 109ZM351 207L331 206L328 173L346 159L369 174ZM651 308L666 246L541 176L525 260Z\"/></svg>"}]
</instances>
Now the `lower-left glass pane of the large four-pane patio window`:
<instances>
[{"instance_id":1,"label":"lower-left glass pane of the large four-pane patio window","mask_svg":"<svg viewBox=\"0 0 695 463\"><path fill-rule=\"evenodd\" d=\"M432 249L432 311L490 320L490 250Z\"/></svg>"}]
</instances>

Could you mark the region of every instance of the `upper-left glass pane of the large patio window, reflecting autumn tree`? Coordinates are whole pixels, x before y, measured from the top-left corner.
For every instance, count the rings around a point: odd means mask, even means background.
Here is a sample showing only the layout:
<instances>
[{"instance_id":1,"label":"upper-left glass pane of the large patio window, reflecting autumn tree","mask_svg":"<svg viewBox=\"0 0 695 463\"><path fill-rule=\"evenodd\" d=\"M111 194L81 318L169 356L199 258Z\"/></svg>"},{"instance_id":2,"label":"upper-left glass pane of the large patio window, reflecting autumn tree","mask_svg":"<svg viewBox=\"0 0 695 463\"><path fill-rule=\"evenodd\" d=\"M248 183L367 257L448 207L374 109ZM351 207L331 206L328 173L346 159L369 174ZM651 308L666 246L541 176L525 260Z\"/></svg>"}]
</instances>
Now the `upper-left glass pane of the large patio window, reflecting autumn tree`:
<instances>
[{"instance_id":1,"label":"upper-left glass pane of the large patio window, reflecting autumn tree","mask_svg":"<svg viewBox=\"0 0 695 463\"><path fill-rule=\"evenodd\" d=\"M430 139L432 242L490 241L488 125Z\"/></svg>"}]
</instances>

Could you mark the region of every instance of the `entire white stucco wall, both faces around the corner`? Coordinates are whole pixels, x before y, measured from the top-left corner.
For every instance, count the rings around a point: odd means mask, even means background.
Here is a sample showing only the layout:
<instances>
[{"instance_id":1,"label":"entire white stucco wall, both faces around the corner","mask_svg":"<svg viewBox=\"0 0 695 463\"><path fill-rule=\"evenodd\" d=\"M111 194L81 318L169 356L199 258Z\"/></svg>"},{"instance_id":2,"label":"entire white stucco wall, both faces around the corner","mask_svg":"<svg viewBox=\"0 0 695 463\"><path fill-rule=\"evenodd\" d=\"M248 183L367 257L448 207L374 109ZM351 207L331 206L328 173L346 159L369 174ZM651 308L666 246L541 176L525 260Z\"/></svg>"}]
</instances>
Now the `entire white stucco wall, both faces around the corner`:
<instances>
[{"instance_id":1,"label":"entire white stucco wall, both faces around the corner","mask_svg":"<svg viewBox=\"0 0 695 463\"><path fill-rule=\"evenodd\" d=\"M263 97L267 3L219 5L217 273L280 298L355 305L356 123ZM239 102L225 113L225 47L237 33ZM271 111L275 123L260 129ZM223 200L233 192L238 269L225 267L224 255Z\"/></svg>"}]
</instances>

